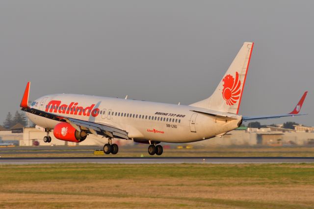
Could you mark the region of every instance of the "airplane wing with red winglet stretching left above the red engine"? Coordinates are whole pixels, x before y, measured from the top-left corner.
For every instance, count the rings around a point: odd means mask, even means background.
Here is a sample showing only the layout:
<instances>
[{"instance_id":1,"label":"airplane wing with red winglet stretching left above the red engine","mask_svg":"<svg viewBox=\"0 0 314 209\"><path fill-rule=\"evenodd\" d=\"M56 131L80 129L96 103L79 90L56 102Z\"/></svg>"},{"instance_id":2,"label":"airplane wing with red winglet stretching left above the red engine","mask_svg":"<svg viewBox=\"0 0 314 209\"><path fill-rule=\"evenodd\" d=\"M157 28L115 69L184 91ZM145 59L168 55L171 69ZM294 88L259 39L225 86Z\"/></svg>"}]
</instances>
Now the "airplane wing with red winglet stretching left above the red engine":
<instances>
[{"instance_id":1,"label":"airplane wing with red winglet stretching left above the red engine","mask_svg":"<svg viewBox=\"0 0 314 209\"><path fill-rule=\"evenodd\" d=\"M94 135L99 134L109 138L129 139L127 131L111 126L109 124L78 120L29 107L28 106L29 86L30 82L28 82L26 85L24 96L20 104L20 106L22 107L21 108L22 111L29 112L31 114L35 114L51 120L69 123L78 131L85 130Z\"/></svg>"}]
</instances>

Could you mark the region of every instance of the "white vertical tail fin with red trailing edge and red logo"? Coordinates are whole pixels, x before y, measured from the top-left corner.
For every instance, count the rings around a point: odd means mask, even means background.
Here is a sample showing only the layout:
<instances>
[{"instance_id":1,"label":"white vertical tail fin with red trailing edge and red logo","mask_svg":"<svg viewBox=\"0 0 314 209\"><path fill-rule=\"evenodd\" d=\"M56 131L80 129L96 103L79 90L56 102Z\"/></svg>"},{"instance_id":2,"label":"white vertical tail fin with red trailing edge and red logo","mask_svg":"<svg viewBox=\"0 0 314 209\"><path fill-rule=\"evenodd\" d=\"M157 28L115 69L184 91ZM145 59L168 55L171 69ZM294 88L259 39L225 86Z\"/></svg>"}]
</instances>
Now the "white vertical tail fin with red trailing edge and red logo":
<instances>
[{"instance_id":1,"label":"white vertical tail fin with red trailing edge and red logo","mask_svg":"<svg viewBox=\"0 0 314 209\"><path fill-rule=\"evenodd\" d=\"M252 42L244 42L214 93L209 98L190 105L237 114L253 46Z\"/></svg>"}]
</instances>

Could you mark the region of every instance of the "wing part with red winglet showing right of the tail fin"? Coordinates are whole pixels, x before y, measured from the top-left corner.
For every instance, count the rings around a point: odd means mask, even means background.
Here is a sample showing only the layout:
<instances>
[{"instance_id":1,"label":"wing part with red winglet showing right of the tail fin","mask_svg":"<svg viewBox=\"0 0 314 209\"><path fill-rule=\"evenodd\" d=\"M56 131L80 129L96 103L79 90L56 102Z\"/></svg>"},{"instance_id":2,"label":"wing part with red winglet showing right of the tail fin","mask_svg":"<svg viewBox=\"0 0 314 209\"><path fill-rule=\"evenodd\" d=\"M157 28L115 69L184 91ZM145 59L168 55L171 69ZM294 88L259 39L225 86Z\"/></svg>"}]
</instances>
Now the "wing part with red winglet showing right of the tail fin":
<instances>
[{"instance_id":1,"label":"wing part with red winglet showing right of the tail fin","mask_svg":"<svg viewBox=\"0 0 314 209\"><path fill-rule=\"evenodd\" d=\"M304 92L303 96L301 97L300 101L298 104L294 107L294 109L288 113L288 114L281 114L281 115L260 115L260 116L243 116L242 119L243 121L252 121L252 120L265 120L265 119L272 119L272 118L281 118L281 117L293 117L293 116L298 116L298 115L307 115L307 114L299 114L301 111L301 107L303 105L303 102L305 100L305 97L307 95L307 91Z\"/></svg>"}]
</instances>

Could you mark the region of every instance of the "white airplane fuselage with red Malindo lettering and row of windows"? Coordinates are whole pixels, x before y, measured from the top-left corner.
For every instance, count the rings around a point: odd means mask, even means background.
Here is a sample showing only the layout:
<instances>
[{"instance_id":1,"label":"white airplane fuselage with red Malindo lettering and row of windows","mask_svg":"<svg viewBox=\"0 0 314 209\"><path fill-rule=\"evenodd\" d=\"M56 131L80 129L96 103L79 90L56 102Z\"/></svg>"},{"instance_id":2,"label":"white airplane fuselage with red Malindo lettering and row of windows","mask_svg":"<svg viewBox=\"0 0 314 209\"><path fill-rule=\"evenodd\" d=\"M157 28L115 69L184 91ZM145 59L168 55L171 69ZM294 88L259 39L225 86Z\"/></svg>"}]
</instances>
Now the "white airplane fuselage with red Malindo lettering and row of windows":
<instances>
[{"instance_id":1,"label":"white airplane fuselage with red Malindo lettering and row of windows","mask_svg":"<svg viewBox=\"0 0 314 209\"><path fill-rule=\"evenodd\" d=\"M201 113L203 108L188 105L74 94L43 96L35 100L31 108L63 117L111 125L127 131L129 138L134 141L171 143L194 142L215 137L236 129L242 119L235 114L234 120L227 121ZM26 115L33 123L43 128L53 129L59 123L27 112Z\"/></svg>"}]
</instances>

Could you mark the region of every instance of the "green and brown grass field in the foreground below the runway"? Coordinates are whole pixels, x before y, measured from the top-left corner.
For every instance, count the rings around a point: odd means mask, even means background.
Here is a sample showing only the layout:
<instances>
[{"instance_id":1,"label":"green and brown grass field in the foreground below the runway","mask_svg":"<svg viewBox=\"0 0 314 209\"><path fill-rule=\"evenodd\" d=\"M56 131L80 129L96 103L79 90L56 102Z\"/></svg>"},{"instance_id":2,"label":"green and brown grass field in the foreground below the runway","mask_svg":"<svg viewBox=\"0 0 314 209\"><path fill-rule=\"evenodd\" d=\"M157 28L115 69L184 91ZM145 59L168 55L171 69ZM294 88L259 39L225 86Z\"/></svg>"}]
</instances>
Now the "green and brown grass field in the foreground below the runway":
<instances>
[{"instance_id":1,"label":"green and brown grass field in the foreground below the runway","mask_svg":"<svg viewBox=\"0 0 314 209\"><path fill-rule=\"evenodd\" d=\"M0 208L314 208L314 164L0 165Z\"/></svg>"}]
</instances>

